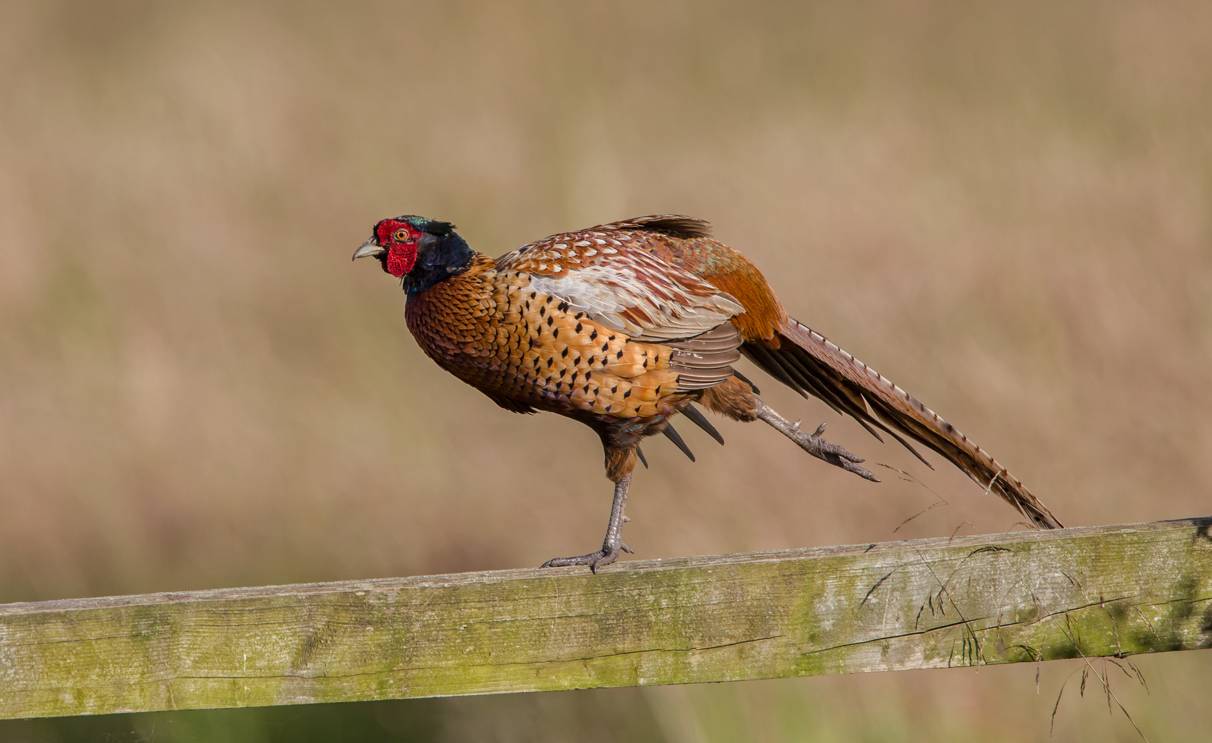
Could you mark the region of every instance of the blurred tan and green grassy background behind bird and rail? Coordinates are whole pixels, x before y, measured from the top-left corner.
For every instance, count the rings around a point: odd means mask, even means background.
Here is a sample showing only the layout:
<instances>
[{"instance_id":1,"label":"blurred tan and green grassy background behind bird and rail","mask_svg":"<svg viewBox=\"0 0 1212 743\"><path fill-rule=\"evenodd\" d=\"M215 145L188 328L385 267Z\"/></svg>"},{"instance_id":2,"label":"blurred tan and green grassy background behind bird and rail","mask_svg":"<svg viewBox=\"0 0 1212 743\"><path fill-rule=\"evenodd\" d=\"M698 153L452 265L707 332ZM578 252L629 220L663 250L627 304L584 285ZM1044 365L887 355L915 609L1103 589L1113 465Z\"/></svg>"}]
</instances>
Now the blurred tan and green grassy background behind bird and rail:
<instances>
[{"instance_id":1,"label":"blurred tan and green grassy background behind bird and rail","mask_svg":"<svg viewBox=\"0 0 1212 743\"><path fill-rule=\"evenodd\" d=\"M1212 5L0 4L0 601L537 565L587 428L440 372L351 250L696 214L1070 525L1208 516ZM950 468L647 448L640 557L994 532ZM538 454L542 453L542 457ZM542 459L543 465L536 462ZM936 495L937 494L937 495ZM937 499L934 508L893 530ZM965 525L966 522L971 524ZM1113 690L1212 725L1207 652ZM0 724L12 741L1046 741L1079 666ZM1136 739L1069 680L1056 739ZM1088 690L1088 689L1087 689Z\"/></svg>"}]
</instances>

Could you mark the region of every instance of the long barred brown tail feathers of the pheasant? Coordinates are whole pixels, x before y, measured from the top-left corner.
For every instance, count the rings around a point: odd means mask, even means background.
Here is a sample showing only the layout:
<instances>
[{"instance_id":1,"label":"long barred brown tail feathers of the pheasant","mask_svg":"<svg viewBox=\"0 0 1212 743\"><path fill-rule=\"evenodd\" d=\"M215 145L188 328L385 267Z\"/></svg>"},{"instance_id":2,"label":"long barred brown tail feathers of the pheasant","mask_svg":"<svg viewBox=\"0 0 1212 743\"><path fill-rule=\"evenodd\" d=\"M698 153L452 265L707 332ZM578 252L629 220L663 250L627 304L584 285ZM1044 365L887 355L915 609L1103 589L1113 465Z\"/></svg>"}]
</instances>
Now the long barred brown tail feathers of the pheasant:
<instances>
[{"instance_id":1,"label":"long barred brown tail feathers of the pheasant","mask_svg":"<svg viewBox=\"0 0 1212 743\"><path fill-rule=\"evenodd\" d=\"M837 413L852 415L871 436L885 431L926 466L930 462L905 437L950 460L982 488L991 489L1040 529L1060 529L1052 512L981 447L968 440L933 410L910 397L874 369L846 353L819 333L788 318L776 336L778 347L749 341L742 351L767 374L801 394L823 399Z\"/></svg>"}]
</instances>

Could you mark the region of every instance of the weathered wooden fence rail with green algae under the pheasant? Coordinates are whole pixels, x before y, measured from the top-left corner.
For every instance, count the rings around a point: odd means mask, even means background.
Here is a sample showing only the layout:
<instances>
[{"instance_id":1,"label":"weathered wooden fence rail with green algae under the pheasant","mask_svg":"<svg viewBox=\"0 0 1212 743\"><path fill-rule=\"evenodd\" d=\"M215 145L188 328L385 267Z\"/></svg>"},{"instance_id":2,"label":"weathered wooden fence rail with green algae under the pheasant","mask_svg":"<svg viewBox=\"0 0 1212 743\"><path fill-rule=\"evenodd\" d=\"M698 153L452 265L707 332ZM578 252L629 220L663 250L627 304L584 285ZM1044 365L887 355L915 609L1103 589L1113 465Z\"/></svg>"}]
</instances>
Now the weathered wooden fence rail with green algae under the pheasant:
<instances>
[{"instance_id":1,"label":"weathered wooden fence rail with green algae under the pheasant","mask_svg":"<svg viewBox=\"0 0 1212 743\"><path fill-rule=\"evenodd\" d=\"M1210 528L0 605L0 718L1212 647Z\"/></svg>"}]
</instances>

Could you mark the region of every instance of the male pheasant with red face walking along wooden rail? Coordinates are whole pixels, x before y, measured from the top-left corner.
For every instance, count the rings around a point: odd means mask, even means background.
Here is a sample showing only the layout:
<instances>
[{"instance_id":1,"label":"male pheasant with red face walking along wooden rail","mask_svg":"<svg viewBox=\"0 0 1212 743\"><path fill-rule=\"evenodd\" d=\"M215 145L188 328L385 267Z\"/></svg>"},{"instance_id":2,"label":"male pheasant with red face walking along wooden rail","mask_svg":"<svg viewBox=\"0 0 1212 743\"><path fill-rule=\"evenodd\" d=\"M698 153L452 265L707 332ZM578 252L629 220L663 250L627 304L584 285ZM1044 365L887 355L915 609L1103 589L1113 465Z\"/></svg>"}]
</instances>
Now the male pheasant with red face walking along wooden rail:
<instances>
[{"instance_id":1,"label":"male pheasant with red face walking along wooden rail","mask_svg":"<svg viewBox=\"0 0 1212 743\"><path fill-rule=\"evenodd\" d=\"M864 460L800 430L733 368L745 356L804 397L816 396L867 431L933 449L1031 525L1060 522L984 450L850 353L791 318L744 255L710 225L659 214L553 235L490 258L454 225L416 215L384 219L354 259L375 257L401 280L405 318L440 367L515 413L548 410L601 438L614 483L601 549L543 568L594 572L631 552L621 538L640 443L662 433L693 460L670 421L678 414L724 439L696 403L738 421L761 420L801 449L879 482ZM647 466L647 462L644 462Z\"/></svg>"}]
</instances>

